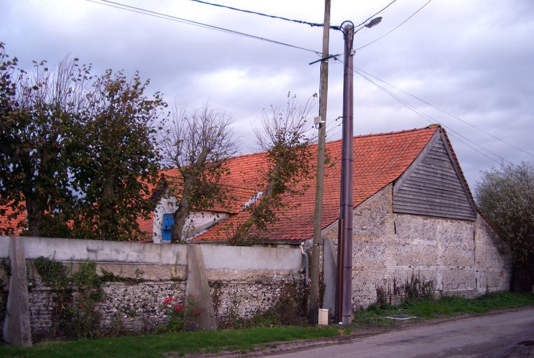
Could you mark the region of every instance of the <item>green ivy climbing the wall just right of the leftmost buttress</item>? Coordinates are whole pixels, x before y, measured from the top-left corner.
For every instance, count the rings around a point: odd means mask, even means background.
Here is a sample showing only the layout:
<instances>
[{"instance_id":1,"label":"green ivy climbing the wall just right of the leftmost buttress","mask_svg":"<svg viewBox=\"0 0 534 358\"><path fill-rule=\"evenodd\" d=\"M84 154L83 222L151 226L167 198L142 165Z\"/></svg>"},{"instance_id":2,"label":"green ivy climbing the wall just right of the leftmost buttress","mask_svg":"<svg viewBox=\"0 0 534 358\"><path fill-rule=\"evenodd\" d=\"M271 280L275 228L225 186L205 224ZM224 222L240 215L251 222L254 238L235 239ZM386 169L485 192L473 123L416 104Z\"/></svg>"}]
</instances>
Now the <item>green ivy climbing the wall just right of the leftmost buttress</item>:
<instances>
[{"instance_id":1,"label":"green ivy climbing the wall just right of the leftmost buttress","mask_svg":"<svg viewBox=\"0 0 534 358\"><path fill-rule=\"evenodd\" d=\"M106 322L106 317L103 317L101 308L106 298L103 285L107 282L139 285L146 281L141 277L144 273L141 269L136 268L135 277L123 277L106 271L104 268L101 268L100 275L97 274L97 265L92 261L78 262L76 271L73 266L72 262L68 266L47 257L38 257L34 260L33 266L30 265L30 269L36 271L41 277L43 285L50 289L51 325L48 331L40 332L43 335L42 338L78 339L126 334L128 329L122 321L122 316L136 317L136 320L141 322L143 333L151 329L167 331L173 328L171 326L150 327L148 310L150 312L162 310L163 315L167 315L168 319L173 317L169 315L165 305L157 305L156 302L154 302L155 306L137 300L133 305L119 303L115 307L116 313L111 317L111 322ZM34 283L29 282L29 288L34 287ZM174 311L171 310L171 313Z\"/></svg>"}]
</instances>

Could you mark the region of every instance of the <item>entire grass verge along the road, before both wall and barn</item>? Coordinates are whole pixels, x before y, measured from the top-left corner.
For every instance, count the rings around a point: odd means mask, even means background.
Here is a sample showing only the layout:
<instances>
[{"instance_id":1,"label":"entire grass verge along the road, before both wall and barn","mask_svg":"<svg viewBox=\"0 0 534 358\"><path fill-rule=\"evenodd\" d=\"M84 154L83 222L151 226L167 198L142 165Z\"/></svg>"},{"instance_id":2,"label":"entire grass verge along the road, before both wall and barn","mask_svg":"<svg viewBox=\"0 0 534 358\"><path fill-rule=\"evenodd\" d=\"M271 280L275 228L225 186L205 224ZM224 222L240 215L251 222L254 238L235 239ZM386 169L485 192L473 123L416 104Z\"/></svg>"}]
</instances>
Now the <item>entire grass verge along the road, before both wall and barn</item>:
<instances>
[{"instance_id":1,"label":"entire grass verge along the road, before both wall and barn","mask_svg":"<svg viewBox=\"0 0 534 358\"><path fill-rule=\"evenodd\" d=\"M422 319L462 314L486 313L490 310L534 306L533 294L500 292L477 299L443 297L435 301L407 301L399 306L372 305L357 311L353 329L386 328L397 321L386 316L412 315ZM339 336L349 333L347 327L258 327L239 330L154 334L79 341L50 341L31 348L0 346L0 357L178 357L195 353L216 353L221 350L250 351L276 341L294 341Z\"/></svg>"}]
</instances>

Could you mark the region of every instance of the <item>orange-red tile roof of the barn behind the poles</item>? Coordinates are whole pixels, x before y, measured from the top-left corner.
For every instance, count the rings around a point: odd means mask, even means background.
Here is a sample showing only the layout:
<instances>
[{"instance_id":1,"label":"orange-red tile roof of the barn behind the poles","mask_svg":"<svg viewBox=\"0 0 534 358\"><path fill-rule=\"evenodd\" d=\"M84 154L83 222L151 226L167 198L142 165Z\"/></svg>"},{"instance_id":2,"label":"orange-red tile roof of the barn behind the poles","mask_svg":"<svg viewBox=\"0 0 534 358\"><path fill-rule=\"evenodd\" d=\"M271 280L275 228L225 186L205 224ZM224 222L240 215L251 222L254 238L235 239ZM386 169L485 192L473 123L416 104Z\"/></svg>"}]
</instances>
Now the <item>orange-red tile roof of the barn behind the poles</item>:
<instances>
[{"instance_id":1,"label":"orange-red tile roof of the barn behind the poles","mask_svg":"<svg viewBox=\"0 0 534 358\"><path fill-rule=\"evenodd\" d=\"M438 126L399 131L386 134L371 134L353 138L353 204L358 206L400 175L425 148L430 138L439 130ZM321 225L327 227L339 216L339 185L341 164L341 141L326 144L332 165L325 168L323 194L323 219ZM309 158L316 163L316 145L311 148ZM246 194L255 194L262 189L260 172L265 170L265 152L234 157L228 163L230 176L225 185L243 188ZM272 224L269 231L258 233L272 241L300 242L313 235L314 203L316 179L304 180L309 189L303 196L286 196L289 208L280 213L279 222ZM249 191L250 190L250 191ZM250 198L252 195L248 196ZM244 195L244 198L246 196ZM239 203L243 205L244 202ZM241 210L220 224L194 239L194 241L225 241L235 228L244 222L248 212ZM230 225L230 229L229 229Z\"/></svg>"}]
</instances>

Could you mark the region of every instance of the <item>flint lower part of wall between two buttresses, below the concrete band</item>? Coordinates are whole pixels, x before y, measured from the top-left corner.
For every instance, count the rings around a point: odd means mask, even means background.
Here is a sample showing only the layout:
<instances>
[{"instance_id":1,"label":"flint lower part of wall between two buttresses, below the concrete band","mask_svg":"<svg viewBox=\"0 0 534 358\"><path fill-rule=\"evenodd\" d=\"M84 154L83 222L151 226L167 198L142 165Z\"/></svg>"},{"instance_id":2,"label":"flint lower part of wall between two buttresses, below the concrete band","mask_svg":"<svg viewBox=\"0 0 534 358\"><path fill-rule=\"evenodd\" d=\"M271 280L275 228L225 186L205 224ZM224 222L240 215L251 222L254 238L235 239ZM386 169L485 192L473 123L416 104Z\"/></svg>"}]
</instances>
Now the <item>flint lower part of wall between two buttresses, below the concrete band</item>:
<instances>
[{"instance_id":1,"label":"flint lower part of wall between two buttresses, below the concrete band","mask_svg":"<svg viewBox=\"0 0 534 358\"><path fill-rule=\"evenodd\" d=\"M52 310L55 292L36 273L34 260L27 260L29 280L29 309L31 335L34 339L50 336ZM76 272L76 262L64 262L68 271ZM113 273L124 282L104 282L101 289L104 299L95 307L101 315L103 334L125 332L148 332L167 323L167 315L162 301L167 296L183 299L185 282L183 266L148 264L109 264L97 263L97 273L101 269ZM136 271L136 273L134 273ZM178 271L182 275L169 275ZM132 274L130 274L132 273Z\"/></svg>"}]
</instances>

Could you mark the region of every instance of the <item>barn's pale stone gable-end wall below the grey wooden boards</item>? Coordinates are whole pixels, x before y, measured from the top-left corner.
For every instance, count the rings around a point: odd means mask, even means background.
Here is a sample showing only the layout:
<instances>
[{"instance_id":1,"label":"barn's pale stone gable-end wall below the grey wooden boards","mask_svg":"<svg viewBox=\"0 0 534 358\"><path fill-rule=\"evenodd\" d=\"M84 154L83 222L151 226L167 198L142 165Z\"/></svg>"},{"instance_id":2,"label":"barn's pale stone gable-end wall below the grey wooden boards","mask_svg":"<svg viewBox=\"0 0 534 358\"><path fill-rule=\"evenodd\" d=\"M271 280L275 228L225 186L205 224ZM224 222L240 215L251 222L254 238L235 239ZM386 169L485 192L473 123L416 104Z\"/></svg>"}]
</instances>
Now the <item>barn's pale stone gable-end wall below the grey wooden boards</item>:
<instances>
[{"instance_id":1,"label":"barn's pale stone gable-end wall below the grey wooden boards","mask_svg":"<svg viewBox=\"0 0 534 358\"><path fill-rule=\"evenodd\" d=\"M392 185L353 212L353 307L398 303L419 286L441 294L478 296L510 287L510 250L480 215L476 221L393 213ZM323 231L335 260L337 223ZM328 250L327 250L328 251ZM327 292L332 292L330 285ZM330 280L332 281L332 280ZM335 282L335 280L333 281ZM325 305L333 308L332 294ZM332 307L329 307L332 306Z\"/></svg>"}]
</instances>

